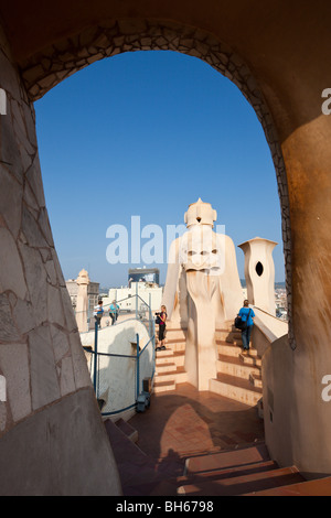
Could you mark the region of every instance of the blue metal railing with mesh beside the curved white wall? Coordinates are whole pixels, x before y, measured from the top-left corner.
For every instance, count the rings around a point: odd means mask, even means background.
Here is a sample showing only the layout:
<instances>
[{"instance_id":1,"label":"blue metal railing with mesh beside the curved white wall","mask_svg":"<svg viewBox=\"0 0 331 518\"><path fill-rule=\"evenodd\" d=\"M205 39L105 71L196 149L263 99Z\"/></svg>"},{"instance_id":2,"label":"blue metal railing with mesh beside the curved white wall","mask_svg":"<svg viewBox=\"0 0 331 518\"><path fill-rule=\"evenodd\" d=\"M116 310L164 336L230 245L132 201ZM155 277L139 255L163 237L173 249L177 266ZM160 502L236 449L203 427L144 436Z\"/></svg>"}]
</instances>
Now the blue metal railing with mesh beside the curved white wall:
<instances>
[{"instance_id":1,"label":"blue metal railing with mesh beside the curved white wall","mask_svg":"<svg viewBox=\"0 0 331 518\"><path fill-rule=\"evenodd\" d=\"M141 348L140 346L140 336L138 333L136 333L136 342L135 343L131 343L131 345L134 346L137 346L136 348L136 353L135 354L117 354L117 353L104 353L104 352L100 352L99 350L99 333L100 331L103 331L102 328L99 328L99 323L98 321L96 320L95 321L95 324L94 324L94 347L87 347L87 346L83 346L83 348L88 353L90 354L90 367L89 367L89 370L90 373L93 373L93 386L94 386L94 390L95 390L95 393L96 393L96 398L98 400L98 403L99 403L99 408L100 408L100 411L102 411L102 416L104 417L110 417L110 416L115 416L115 414L118 414L118 413L121 413L121 412L125 412L125 411L128 411L128 410L131 410L134 408L136 408L136 410L139 408L140 410L139 411L142 411L141 410L141 401L143 400L145 398L145 404L146 407L149 406L149 395L147 393L146 390L143 390L143 380L141 379L141 369L140 369L140 366L141 366L141 359L143 357L143 355L147 355L149 354L149 357L151 357L151 375L149 376L149 382L150 385L152 385L153 382L153 377L154 377L154 371L156 371L156 327L154 327L154 320L153 320L153 315L152 315L152 310L151 310L151 303L147 304L146 301L143 299L141 299L141 296L139 294L135 294L135 295L131 295L130 298L126 298L126 299L122 299L120 301L117 301L117 304L120 303L120 302L124 302L126 300L130 300L132 301L132 299L136 298L136 301L135 301L135 305L136 305L136 309L135 309L135 317L132 317L130 315L129 319L126 319L126 320L121 320L120 322L115 322L114 325L120 325L125 322L128 322L128 321L139 321L141 322L147 332L148 332L148 336L149 336L149 339L148 342L145 344L145 346ZM150 298L151 299L151 298ZM139 304L138 302L142 301L142 309L143 311L141 310L141 306L139 309ZM150 302L150 300L149 300ZM105 305L104 307L104 312L106 312L107 310L107 306L110 306L111 304L108 304L108 305ZM90 319L90 316L89 316ZM148 325L147 325L148 324ZM105 327L104 327L105 328ZM88 333L92 333L93 331L89 331ZM150 348L151 348L151 353L150 353ZM127 374L128 376L130 376L130 373L135 373L134 376L135 376L135 391L132 393L132 402L126 407L121 407L121 408L117 408L117 409L114 409L111 411L107 411L107 412L103 412L103 407L105 407L105 401L103 400L103 391L100 390L100 377L102 377L102 371L103 369L100 368L100 360L102 359L107 359L109 358L109 361L110 360L115 360L115 358L117 358L118 360L120 361L131 361L134 363L134 366L131 366L130 364L128 364L128 368L124 370L127 370ZM128 382L131 381L131 380L128 380ZM109 386L109 388L111 388ZM116 390L116 387L111 388L113 391ZM107 406L107 404L106 404ZM142 401L142 407L143 407L143 401Z\"/></svg>"}]
</instances>

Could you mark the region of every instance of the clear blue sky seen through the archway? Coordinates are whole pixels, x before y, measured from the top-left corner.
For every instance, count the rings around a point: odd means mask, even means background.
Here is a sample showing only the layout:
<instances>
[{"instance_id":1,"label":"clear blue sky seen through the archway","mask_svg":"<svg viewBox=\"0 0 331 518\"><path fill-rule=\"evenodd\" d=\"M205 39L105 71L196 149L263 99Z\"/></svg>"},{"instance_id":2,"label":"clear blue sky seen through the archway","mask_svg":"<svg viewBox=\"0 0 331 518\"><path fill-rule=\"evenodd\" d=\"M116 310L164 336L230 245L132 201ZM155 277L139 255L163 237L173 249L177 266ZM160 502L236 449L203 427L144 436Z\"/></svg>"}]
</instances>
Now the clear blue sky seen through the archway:
<instances>
[{"instance_id":1,"label":"clear blue sky seen through the archway","mask_svg":"<svg viewBox=\"0 0 331 518\"><path fill-rule=\"evenodd\" d=\"M102 287L126 285L129 268L109 265L111 225L130 236L146 225L183 224L199 197L217 211L237 245L256 236L278 242L280 205L270 151L249 104L204 62L175 52L126 53L97 62L35 102L46 204L65 279L82 268ZM141 240L141 244L147 240ZM167 263L159 267L166 281Z\"/></svg>"}]
</instances>

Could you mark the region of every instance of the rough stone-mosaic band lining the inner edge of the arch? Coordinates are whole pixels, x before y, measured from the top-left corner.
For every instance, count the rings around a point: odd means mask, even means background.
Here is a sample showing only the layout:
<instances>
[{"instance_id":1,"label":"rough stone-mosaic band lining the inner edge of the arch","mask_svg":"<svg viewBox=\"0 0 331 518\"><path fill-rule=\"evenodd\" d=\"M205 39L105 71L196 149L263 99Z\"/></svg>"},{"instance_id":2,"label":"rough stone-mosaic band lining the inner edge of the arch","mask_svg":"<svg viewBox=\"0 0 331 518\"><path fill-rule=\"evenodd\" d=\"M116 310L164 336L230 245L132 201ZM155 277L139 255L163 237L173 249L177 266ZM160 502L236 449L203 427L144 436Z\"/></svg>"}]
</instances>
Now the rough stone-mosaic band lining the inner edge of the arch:
<instances>
[{"instance_id":1,"label":"rough stone-mosaic band lining the inner edge of the arch","mask_svg":"<svg viewBox=\"0 0 331 518\"><path fill-rule=\"evenodd\" d=\"M111 20L84 30L38 53L22 77L32 101L92 63L125 52L175 51L197 57L232 80L254 108L269 144L281 206L282 240L289 314L289 343L296 348L291 325L291 233L287 176L273 117L259 86L244 60L224 42L201 29L148 20Z\"/></svg>"}]
</instances>

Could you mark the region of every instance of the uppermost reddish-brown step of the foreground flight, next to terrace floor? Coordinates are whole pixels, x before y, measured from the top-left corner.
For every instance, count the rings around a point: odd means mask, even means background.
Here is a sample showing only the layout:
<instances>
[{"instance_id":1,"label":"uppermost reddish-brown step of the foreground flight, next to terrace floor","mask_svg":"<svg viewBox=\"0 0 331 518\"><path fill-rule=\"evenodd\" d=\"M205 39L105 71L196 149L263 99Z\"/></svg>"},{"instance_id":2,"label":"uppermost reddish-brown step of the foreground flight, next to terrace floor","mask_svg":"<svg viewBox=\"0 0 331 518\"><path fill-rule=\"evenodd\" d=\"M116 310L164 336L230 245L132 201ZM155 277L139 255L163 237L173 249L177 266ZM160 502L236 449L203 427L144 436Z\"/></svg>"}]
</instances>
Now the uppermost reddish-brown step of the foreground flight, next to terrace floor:
<instances>
[{"instance_id":1,"label":"uppermost reddish-brown step of the foreground flight, next to terrace floor","mask_svg":"<svg viewBox=\"0 0 331 518\"><path fill-rule=\"evenodd\" d=\"M184 475L213 470L227 470L266 461L270 461L268 449L264 442L257 442L242 447L232 447L217 453L186 458Z\"/></svg>"}]
</instances>

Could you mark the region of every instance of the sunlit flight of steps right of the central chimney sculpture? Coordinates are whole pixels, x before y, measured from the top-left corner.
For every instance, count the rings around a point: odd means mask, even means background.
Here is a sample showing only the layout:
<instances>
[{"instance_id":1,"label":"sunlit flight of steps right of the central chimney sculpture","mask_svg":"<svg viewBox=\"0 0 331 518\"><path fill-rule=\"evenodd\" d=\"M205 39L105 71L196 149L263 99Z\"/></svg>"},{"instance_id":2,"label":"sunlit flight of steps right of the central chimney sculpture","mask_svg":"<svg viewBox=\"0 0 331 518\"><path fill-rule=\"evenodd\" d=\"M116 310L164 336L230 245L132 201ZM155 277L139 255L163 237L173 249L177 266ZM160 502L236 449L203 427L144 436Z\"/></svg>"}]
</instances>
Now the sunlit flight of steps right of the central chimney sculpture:
<instances>
[{"instance_id":1,"label":"sunlit flight of steps right of the central chimney sculpture","mask_svg":"<svg viewBox=\"0 0 331 518\"><path fill-rule=\"evenodd\" d=\"M232 323L216 330L217 377L210 380L210 390L258 409L261 404L261 358L252 347L243 352L242 333Z\"/></svg>"}]
</instances>

